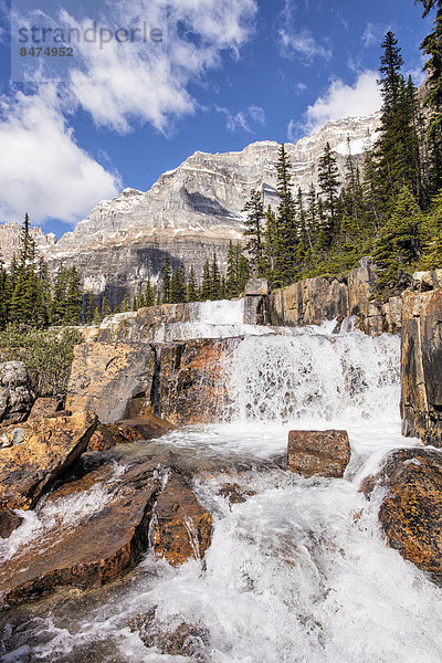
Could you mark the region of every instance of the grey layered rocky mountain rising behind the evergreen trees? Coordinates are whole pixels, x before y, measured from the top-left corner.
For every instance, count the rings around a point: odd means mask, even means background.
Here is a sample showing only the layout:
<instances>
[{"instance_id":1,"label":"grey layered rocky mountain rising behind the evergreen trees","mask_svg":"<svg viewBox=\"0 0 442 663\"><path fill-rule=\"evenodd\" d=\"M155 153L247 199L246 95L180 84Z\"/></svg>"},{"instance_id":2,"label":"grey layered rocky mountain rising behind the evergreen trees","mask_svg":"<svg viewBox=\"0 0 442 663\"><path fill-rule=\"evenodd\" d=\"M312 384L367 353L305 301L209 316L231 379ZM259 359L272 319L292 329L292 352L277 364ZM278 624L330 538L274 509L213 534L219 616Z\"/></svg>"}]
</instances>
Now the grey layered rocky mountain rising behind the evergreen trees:
<instances>
[{"instance_id":1,"label":"grey layered rocky mountain rising behind the evergreen trees","mask_svg":"<svg viewBox=\"0 0 442 663\"><path fill-rule=\"evenodd\" d=\"M307 191L312 181L317 183L327 141L344 178L347 137L358 160L378 123L378 115L335 120L296 145L287 144L294 189ZM40 249L52 269L75 262L85 291L106 293L113 304L148 276L158 278L167 254L173 266L193 264L200 274L208 257L217 252L224 262L229 241L241 240L242 210L252 188L262 189L265 204L276 202L278 147L261 141L238 152L197 151L161 175L149 191L125 189L114 200L99 202L73 232L57 243L52 238L39 242ZM10 224L0 227L0 250L7 260L17 246L10 239L13 232L18 230Z\"/></svg>"}]
</instances>

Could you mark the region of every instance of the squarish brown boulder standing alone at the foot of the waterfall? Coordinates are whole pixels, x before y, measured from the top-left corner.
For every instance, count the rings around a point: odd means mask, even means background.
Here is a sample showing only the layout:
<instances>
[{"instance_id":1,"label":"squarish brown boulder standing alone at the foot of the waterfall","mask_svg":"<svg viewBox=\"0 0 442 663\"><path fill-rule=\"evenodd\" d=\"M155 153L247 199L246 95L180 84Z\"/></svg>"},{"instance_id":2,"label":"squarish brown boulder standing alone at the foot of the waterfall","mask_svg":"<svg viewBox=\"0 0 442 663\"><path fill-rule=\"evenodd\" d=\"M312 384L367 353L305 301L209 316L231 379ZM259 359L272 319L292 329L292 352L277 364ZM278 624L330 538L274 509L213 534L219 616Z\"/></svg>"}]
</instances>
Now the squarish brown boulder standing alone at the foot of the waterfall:
<instances>
[{"instance_id":1,"label":"squarish brown boulder standing alone at the foot of the waterfall","mask_svg":"<svg viewBox=\"0 0 442 663\"><path fill-rule=\"evenodd\" d=\"M291 431L288 433L288 470L309 477L341 478L350 462L350 444L346 431Z\"/></svg>"}]
</instances>

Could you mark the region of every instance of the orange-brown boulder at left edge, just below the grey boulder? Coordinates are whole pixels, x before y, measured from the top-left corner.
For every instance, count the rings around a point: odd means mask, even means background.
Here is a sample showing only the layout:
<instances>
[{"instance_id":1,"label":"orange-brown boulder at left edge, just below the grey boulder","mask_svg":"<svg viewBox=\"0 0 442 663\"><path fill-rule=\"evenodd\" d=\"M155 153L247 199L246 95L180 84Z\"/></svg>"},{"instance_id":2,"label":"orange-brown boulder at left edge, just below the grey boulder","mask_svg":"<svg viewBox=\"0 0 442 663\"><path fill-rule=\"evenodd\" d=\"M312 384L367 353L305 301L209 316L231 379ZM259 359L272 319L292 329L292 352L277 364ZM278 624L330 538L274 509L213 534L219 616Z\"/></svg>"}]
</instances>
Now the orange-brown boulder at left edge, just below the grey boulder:
<instances>
[{"instance_id":1,"label":"orange-brown boulder at left edge, just below the grey boulder","mask_svg":"<svg viewBox=\"0 0 442 663\"><path fill-rule=\"evenodd\" d=\"M0 505L29 509L85 451L97 424L93 412L36 419L1 430Z\"/></svg>"}]
</instances>

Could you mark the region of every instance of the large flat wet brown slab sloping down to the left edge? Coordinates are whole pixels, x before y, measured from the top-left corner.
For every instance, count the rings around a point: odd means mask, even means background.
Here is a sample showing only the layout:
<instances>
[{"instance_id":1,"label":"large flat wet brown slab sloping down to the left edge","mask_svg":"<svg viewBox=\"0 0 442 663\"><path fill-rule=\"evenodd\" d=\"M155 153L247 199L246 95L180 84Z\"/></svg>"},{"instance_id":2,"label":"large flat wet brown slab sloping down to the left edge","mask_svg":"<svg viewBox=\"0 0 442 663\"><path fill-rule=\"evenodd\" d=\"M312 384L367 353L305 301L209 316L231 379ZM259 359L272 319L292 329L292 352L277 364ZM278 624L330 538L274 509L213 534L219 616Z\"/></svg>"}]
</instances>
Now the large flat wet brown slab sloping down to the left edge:
<instances>
[{"instance_id":1,"label":"large flat wet brown slab sloping down to the left edge","mask_svg":"<svg viewBox=\"0 0 442 663\"><path fill-rule=\"evenodd\" d=\"M0 594L9 604L39 598L56 587L94 588L131 568L146 550L160 481L152 463L140 463L113 481L112 465L62 486L56 503L97 482L109 493L76 527L55 526L0 566Z\"/></svg>"}]
</instances>

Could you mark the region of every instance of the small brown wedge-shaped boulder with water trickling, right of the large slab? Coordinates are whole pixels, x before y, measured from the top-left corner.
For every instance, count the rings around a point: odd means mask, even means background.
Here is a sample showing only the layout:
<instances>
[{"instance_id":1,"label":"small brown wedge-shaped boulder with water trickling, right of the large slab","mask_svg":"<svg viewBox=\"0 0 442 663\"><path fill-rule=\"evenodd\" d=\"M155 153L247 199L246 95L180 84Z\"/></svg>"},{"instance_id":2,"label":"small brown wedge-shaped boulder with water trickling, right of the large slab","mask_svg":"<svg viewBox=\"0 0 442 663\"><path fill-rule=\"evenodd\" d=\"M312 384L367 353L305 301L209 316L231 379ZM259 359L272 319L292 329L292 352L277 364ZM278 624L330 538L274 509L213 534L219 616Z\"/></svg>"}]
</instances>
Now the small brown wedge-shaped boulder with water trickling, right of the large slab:
<instances>
[{"instance_id":1,"label":"small brown wedge-shaped boulder with water trickling, right of the large slab","mask_svg":"<svg viewBox=\"0 0 442 663\"><path fill-rule=\"evenodd\" d=\"M202 559L211 543L213 518L187 481L171 472L155 508L154 549L171 566Z\"/></svg>"}]
</instances>

